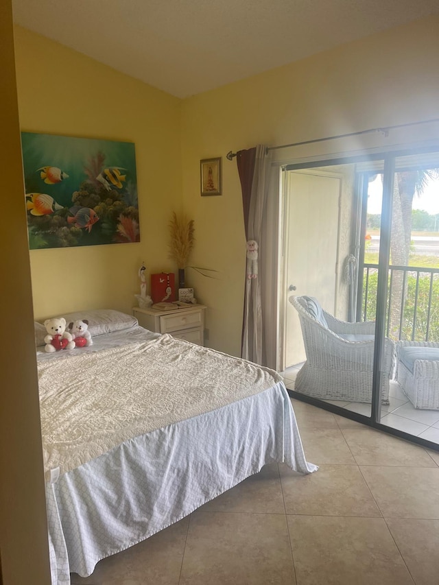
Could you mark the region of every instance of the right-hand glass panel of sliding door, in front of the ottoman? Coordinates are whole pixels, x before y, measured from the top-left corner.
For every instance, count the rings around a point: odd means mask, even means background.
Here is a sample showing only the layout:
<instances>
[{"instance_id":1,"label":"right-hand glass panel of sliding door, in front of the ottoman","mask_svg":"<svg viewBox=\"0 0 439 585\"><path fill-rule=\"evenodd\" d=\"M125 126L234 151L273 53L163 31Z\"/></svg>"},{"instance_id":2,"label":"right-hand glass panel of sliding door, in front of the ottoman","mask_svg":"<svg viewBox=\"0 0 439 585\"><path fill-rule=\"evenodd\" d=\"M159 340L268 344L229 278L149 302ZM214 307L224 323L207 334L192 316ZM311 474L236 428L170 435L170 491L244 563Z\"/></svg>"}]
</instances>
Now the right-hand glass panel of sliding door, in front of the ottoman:
<instances>
[{"instance_id":1,"label":"right-hand glass panel of sliding door, in front of the ottoman","mask_svg":"<svg viewBox=\"0 0 439 585\"><path fill-rule=\"evenodd\" d=\"M439 154L394 156L390 165L375 179L389 190L379 232L379 216L366 218L370 236L386 247L377 322L385 343L394 345L389 401L374 420L439 444ZM372 254L365 253L365 271Z\"/></svg>"}]
</instances>

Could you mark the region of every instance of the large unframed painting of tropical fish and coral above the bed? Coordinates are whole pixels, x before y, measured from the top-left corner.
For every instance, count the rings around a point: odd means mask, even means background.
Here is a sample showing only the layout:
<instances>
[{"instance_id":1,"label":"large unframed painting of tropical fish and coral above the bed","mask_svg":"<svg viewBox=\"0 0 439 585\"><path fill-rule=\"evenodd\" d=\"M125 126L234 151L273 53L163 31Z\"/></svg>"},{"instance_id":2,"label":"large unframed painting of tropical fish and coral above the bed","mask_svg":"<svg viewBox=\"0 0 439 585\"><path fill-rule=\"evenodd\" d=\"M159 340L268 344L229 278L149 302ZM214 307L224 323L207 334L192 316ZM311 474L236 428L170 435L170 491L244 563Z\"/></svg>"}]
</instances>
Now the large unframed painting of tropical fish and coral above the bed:
<instances>
[{"instance_id":1,"label":"large unframed painting of tropical fish and coral above the bed","mask_svg":"<svg viewBox=\"0 0 439 585\"><path fill-rule=\"evenodd\" d=\"M134 144L22 132L29 248L140 241Z\"/></svg>"}]
</instances>

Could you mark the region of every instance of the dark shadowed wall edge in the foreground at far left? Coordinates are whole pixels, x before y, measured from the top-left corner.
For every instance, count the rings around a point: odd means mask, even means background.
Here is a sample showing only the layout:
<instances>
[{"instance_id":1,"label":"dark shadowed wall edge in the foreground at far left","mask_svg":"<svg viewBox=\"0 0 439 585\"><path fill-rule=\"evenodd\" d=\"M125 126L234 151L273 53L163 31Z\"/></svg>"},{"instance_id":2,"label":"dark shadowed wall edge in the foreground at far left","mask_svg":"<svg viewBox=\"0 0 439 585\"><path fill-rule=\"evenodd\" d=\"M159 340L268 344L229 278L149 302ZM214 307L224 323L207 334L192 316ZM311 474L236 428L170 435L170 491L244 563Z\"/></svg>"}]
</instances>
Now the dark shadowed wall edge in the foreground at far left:
<instances>
[{"instance_id":1,"label":"dark shadowed wall edge in the foreground at far left","mask_svg":"<svg viewBox=\"0 0 439 585\"><path fill-rule=\"evenodd\" d=\"M0 153L5 169L1 182L8 200L7 210L0 214L4 333L0 339L0 582L47 585L43 453L10 1L0 4L0 45Z\"/></svg>"}]
</instances>

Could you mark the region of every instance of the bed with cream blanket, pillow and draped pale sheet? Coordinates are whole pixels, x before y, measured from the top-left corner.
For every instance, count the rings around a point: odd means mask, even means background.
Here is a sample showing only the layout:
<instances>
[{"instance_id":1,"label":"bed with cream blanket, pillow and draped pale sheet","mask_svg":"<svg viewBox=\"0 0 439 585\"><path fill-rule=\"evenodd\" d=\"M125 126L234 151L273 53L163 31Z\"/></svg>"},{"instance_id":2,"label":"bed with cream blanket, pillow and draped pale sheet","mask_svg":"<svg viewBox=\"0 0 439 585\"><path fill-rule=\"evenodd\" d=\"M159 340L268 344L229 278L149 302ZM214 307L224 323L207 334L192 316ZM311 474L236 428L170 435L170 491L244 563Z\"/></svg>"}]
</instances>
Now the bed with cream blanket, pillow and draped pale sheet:
<instances>
[{"instance_id":1,"label":"bed with cream blanket, pillow and draped pale sheet","mask_svg":"<svg viewBox=\"0 0 439 585\"><path fill-rule=\"evenodd\" d=\"M45 353L36 323L52 585L229 490L265 465L305 460L276 372L119 311L82 311L93 345Z\"/></svg>"}]
</instances>

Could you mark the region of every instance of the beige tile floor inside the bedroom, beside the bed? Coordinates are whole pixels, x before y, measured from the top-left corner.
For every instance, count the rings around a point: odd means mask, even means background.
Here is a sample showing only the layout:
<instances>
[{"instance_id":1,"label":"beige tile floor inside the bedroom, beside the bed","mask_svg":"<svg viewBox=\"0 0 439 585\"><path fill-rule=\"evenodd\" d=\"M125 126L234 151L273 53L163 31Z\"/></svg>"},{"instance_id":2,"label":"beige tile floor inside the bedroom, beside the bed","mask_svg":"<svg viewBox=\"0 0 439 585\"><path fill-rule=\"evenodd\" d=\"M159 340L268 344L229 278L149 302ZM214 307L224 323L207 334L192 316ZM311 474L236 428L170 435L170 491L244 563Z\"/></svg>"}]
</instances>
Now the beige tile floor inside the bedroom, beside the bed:
<instances>
[{"instance_id":1,"label":"beige tile floor inside the bedroom, beside the bed","mask_svg":"<svg viewBox=\"0 0 439 585\"><path fill-rule=\"evenodd\" d=\"M316 473L265 466L72 584L438 585L439 453L292 403Z\"/></svg>"}]
</instances>

